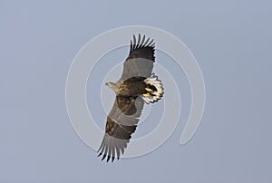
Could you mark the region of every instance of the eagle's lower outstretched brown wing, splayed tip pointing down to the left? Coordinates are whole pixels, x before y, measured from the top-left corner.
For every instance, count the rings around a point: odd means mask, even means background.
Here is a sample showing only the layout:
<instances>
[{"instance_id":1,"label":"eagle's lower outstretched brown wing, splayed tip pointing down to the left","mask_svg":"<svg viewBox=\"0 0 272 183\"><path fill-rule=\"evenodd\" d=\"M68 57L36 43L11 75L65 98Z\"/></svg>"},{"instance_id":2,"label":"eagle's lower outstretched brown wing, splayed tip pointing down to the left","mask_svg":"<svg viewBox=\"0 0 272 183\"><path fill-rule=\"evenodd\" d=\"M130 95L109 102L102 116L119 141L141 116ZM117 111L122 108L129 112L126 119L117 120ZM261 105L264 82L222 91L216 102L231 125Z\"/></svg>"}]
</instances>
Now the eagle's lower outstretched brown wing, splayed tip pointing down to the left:
<instances>
[{"instance_id":1,"label":"eagle's lower outstretched brown wing, splayed tip pointing down to the left","mask_svg":"<svg viewBox=\"0 0 272 183\"><path fill-rule=\"evenodd\" d=\"M139 98L116 96L112 111L107 117L105 134L98 149L102 160L120 158L136 130L144 101Z\"/></svg>"}]
</instances>

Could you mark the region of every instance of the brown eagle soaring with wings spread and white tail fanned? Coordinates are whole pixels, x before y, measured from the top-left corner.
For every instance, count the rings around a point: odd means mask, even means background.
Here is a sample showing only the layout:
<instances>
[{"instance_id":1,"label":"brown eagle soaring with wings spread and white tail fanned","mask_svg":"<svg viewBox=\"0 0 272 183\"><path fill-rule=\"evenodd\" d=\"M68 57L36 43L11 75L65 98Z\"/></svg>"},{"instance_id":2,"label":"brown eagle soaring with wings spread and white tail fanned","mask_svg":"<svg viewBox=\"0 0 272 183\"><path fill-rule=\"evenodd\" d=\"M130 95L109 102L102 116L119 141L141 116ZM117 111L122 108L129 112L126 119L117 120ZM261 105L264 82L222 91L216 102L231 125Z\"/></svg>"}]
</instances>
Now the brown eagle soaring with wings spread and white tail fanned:
<instances>
[{"instance_id":1,"label":"brown eagle soaring with wings spread and white tail fanned","mask_svg":"<svg viewBox=\"0 0 272 183\"><path fill-rule=\"evenodd\" d=\"M155 62L155 43L151 38L133 34L129 56L123 63L121 78L106 82L116 94L112 110L107 116L98 157L108 162L119 159L131 140L141 116L144 103L159 101L164 89L158 76L152 72Z\"/></svg>"}]
</instances>

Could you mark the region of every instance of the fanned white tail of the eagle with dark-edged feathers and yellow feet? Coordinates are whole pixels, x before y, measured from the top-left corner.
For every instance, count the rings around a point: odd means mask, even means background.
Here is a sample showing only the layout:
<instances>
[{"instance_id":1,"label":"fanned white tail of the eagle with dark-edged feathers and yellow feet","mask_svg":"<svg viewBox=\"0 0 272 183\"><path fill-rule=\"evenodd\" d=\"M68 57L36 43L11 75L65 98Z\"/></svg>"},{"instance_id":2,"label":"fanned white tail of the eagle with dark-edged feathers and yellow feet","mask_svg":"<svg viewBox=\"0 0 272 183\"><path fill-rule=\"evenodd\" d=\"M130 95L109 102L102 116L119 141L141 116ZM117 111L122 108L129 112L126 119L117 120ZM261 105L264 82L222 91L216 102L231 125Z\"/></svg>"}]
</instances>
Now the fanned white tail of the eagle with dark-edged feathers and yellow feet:
<instances>
[{"instance_id":1,"label":"fanned white tail of the eagle with dark-edged feathers and yellow feet","mask_svg":"<svg viewBox=\"0 0 272 183\"><path fill-rule=\"evenodd\" d=\"M146 103L159 101L164 92L162 83L158 79L158 76L152 73L151 77L145 79L144 82L147 84L147 87L145 88L146 93L143 94L142 99Z\"/></svg>"}]
</instances>

